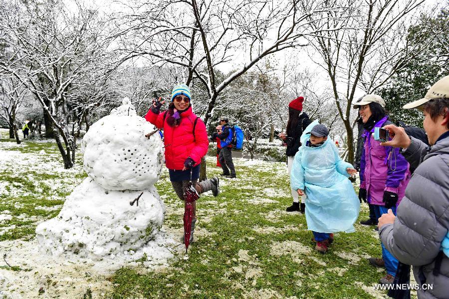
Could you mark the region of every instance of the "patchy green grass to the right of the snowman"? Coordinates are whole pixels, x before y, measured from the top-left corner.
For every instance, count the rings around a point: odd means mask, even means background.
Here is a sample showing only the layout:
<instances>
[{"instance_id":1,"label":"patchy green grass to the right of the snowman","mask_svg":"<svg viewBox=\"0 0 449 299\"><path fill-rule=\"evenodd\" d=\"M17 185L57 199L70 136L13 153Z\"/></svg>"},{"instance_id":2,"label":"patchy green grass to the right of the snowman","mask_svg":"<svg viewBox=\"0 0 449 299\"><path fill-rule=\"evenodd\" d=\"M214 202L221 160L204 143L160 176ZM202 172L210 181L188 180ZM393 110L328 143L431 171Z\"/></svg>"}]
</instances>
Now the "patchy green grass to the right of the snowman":
<instances>
[{"instance_id":1,"label":"patchy green grass to the right of the snowman","mask_svg":"<svg viewBox=\"0 0 449 299\"><path fill-rule=\"evenodd\" d=\"M218 175L214 160L208 162L209 176ZM373 298L361 285L369 290L385 274L366 260L381 255L372 228L357 225L356 233L338 233L330 251L319 254L305 218L283 212L291 204L285 164L237 164L238 180L222 179L219 197L197 202L203 233L189 247L188 260L179 257L157 273L123 268L111 280L112 298ZM166 226L179 230L182 203L168 180L157 187L167 195L167 206L179 212L167 215ZM267 188L279 192L267 196ZM367 212L365 207L360 219Z\"/></svg>"}]
</instances>

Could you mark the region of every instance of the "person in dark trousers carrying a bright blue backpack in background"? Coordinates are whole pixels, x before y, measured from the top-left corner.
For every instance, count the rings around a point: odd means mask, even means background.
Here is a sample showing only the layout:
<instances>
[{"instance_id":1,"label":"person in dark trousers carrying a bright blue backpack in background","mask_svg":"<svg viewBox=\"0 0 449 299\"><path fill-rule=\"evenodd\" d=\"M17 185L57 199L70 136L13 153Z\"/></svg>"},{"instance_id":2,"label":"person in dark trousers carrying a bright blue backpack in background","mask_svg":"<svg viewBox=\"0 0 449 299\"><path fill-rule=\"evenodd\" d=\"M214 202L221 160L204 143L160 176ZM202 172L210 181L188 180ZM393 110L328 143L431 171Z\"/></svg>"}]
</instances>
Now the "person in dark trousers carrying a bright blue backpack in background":
<instances>
[{"instance_id":1,"label":"person in dark trousers carrying a bright blue backpack in background","mask_svg":"<svg viewBox=\"0 0 449 299\"><path fill-rule=\"evenodd\" d=\"M226 116L220 117L220 125L217 126L219 133L217 137L221 140L220 145L222 147L219 154L219 161L222 165L223 173L221 176L227 178L235 179L237 176L235 174L234 162L232 162L232 128L229 126L229 120Z\"/></svg>"}]
</instances>

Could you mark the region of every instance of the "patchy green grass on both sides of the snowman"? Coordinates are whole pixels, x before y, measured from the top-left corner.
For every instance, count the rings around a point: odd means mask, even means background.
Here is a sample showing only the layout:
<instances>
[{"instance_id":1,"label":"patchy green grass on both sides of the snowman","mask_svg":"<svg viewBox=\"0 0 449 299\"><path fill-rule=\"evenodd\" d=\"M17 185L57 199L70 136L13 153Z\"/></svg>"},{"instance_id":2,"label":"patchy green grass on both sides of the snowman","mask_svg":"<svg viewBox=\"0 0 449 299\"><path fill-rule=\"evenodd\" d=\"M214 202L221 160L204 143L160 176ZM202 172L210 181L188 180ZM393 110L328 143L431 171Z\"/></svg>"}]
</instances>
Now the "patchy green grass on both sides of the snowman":
<instances>
[{"instance_id":1,"label":"patchy green grass on both sides of the snowman","mask_svg":"<svg viewBox=\"0 0 449 299\"><path fill-rule=\"evenodd\" d=\"M3 132L4 133L4 132ZM25 141L21 146L0 142L10 155L0 166L0 241L29 240L36 225L54 217L65 196L86 176L81 157L63 170L56 145ZM7 137L7 136L6 136ZM8 143L8 144L3 144ZM41 151L44 151L43 154ZM337 233L327 254L314 250L305 217L286 213L291 195L285 163L237 160L237 180L221 179L222 193L203 195L197 203L195 242L188 259L180 254L170 267L157 272L122 268L112 277L108 298L379 298L372 288L385 275L367 257L381 256L374 227L356 224L352 234ZM208 158L208 175L221 172ZM156 185L167 206L164 228L182 231L183 203L168 174ZM3 214L1 212L0 214ZM368 217L362 206L359 221ZM357 222L358 223L358 222ZM12 228L11 228L12 227ZM180 242L181 243L181 242ZM83 298L92 298L86 286Z\"/></svg>"}]
</instances>

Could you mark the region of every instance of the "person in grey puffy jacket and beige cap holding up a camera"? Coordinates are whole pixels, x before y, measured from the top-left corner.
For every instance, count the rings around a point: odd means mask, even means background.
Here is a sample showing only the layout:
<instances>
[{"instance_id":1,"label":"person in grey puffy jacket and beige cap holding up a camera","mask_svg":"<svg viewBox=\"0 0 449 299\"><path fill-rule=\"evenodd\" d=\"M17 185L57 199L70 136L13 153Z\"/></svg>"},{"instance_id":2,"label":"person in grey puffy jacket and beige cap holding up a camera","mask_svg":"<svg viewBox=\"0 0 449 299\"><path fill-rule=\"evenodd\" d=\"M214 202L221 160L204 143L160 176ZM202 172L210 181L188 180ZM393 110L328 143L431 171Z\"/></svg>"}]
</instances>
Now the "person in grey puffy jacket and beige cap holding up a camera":
<instances>
[{"instance_id":1,"label":"person in grey puffy jacket and beige cap holding up a camera","mask_svg":"<svg viewBox=\"0 0 449 299\"><path fill-rule=\"evenodd\" d=\"M412 265L419 299L449 298L449 257L442 251L449 230L449 76L435 83L423 99L405 109L424 111L429 144L407 136L394 125L384 128L393 139L385 146L402 148L417 167L397 216L389 211L379 219L385 247L401 262Z\"/></svg>"}]
</instances>

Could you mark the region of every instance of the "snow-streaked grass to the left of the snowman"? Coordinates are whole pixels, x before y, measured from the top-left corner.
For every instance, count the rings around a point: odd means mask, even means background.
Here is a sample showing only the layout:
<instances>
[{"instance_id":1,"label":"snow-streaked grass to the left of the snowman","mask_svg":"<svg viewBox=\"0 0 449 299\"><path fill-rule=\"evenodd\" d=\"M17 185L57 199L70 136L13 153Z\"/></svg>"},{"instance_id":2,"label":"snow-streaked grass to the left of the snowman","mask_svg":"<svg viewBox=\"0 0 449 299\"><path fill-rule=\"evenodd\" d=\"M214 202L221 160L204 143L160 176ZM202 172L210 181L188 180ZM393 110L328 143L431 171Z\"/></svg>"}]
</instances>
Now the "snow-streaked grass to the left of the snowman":
<instances>
[{"instance_id":1,"label":"snow-streaked grass to the left of the snowman","mask_svg":"<svg viewBox=\"0 0 449 299\"><path fill-rule=\"evenodd\" d=\"M1 130L0 149L8 155L0 166L0 241L29 240L37 224L58 215L64 199L86 174L82 156L74 169L62 171L62 159L52 140L22 140L20 145Z\"/></svg>"}]
</instances>

